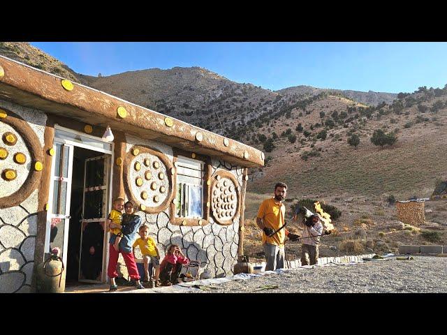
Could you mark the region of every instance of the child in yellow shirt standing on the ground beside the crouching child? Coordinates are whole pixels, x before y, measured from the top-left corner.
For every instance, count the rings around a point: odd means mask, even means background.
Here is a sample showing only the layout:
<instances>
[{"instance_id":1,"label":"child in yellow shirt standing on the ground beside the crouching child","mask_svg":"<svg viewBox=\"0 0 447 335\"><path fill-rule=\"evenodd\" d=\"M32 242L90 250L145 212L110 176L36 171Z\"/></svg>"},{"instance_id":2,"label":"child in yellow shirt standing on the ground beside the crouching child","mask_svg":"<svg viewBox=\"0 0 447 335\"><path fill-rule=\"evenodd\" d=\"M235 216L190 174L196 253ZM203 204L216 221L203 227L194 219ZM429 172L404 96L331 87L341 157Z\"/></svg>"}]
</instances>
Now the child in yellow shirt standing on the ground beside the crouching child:
<instances>
[{"instance_id":1,"label":"child in yellow shirt standing on the ground beside the crouching child","mask_svg":"<svg viewBox=\"0 0 447 335\"><path fill-rule=\"evenodd\" d=\"M159 249L156 247L156 243L152 237L149 237L149 228L147 225L142 225L138 230L140 238L136 239L133 243L133 256L135 257L135 246L140 247L142 253L142 259L145 264L145 280L149 280L149 260L152 261L152 267L155 269L154 281L155 286L159 287L159 275L160 275L160 254Z\"/></svg>"}]
</instances>

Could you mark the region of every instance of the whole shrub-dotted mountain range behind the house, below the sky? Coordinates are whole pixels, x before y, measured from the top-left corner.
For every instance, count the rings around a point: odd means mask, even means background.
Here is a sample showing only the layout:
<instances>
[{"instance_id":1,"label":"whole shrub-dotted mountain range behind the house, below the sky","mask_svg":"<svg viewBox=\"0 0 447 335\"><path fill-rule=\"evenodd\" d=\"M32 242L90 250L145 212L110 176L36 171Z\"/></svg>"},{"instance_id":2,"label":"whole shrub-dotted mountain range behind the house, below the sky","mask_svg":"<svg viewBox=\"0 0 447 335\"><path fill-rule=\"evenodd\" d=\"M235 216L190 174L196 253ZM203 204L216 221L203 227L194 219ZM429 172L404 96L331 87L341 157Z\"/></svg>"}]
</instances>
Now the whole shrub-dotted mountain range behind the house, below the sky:
<instances>
[{"instance_id":1,"label":"whole shrub-dotted mountain range behind the house, below the sky","mask_svg":"<svg viewBox=\"0 0 447 335\"><path fill-rule=\"evenodd\" d=\"M200 67L82 75L29 43L0 43L0 54L265 151L265 167L250 170L249 189L258 193L282 180L291 195L423 197L447 178L446 87L270 91ZM397 143L375 147L370 138L379 128ZM360 137L357 149L347 143L352 134Z\"/></svg>"}]
</instances>

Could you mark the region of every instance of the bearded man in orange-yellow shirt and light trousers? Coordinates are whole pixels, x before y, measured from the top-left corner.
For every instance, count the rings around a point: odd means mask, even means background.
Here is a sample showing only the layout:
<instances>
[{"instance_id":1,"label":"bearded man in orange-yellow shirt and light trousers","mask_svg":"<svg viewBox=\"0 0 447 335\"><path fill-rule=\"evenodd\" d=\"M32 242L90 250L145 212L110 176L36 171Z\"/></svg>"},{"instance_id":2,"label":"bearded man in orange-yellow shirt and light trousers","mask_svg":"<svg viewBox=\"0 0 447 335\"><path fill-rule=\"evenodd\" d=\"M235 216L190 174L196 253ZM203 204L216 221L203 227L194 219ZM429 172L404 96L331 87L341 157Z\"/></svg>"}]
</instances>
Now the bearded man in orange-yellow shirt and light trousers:
<instances>
[{"instance_id":1,"label":"bearded man in orange-yellow shirt and light trousers","mask_svg":"<svg viewBox=\"0 0 447 335\"><path fill-rule=\"evenodd\" d=\"M259 207L256 224L263 230L263 246L265 252L265 270L284 268L284 241L298 239L284 227L286 206L282 203L286 198L287 185L277 183L274 186L274 198L266 199Z\"/></svg>"}]
</instances>

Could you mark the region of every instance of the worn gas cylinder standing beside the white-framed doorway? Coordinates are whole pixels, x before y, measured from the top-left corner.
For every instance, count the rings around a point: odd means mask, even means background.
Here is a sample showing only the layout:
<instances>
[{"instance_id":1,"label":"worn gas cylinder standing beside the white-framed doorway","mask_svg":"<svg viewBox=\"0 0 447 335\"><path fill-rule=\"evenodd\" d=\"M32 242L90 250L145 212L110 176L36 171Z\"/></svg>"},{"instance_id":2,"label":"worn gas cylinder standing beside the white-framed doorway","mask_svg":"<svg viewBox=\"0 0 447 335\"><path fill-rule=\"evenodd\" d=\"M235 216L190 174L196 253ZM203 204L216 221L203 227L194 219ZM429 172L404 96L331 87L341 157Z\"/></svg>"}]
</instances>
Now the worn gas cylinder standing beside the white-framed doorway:
<instances>
[{"instance_id":1,"label":"worn gas cylinder standing beside the white-framed doorway","mask_svg":"<svg viewBox=\"0 0 447 335\"><path fill-rule=\"evenodd\" d=\"M64 261L55 254L46 254L46 259L37 266L36 292L63 293L65 291Z\"/></svg>"}]
</instances>

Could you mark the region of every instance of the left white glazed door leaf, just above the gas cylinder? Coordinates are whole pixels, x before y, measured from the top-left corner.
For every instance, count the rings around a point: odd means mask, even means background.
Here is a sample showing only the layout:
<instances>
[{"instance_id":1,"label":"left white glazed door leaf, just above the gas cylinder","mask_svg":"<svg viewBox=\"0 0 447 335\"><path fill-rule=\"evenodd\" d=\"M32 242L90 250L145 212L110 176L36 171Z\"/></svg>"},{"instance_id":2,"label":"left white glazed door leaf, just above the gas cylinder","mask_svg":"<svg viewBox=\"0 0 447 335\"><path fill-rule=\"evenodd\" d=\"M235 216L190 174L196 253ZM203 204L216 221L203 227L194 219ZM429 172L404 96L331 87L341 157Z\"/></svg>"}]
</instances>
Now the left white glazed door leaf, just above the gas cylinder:
<instances>
[{"instance_id":1,"label":"left white glazed door leaf, just above the gas cylinder","mask_svg":"<svg viewBox=\"0 0 447 335\"><path fill-rule=\"evenodd\" d=\"M47 209L45 253L57 253L67 262L68 227L70 225L71 178L73 145L54 140L50 194Z\"/></svg>"}]
</instances>

